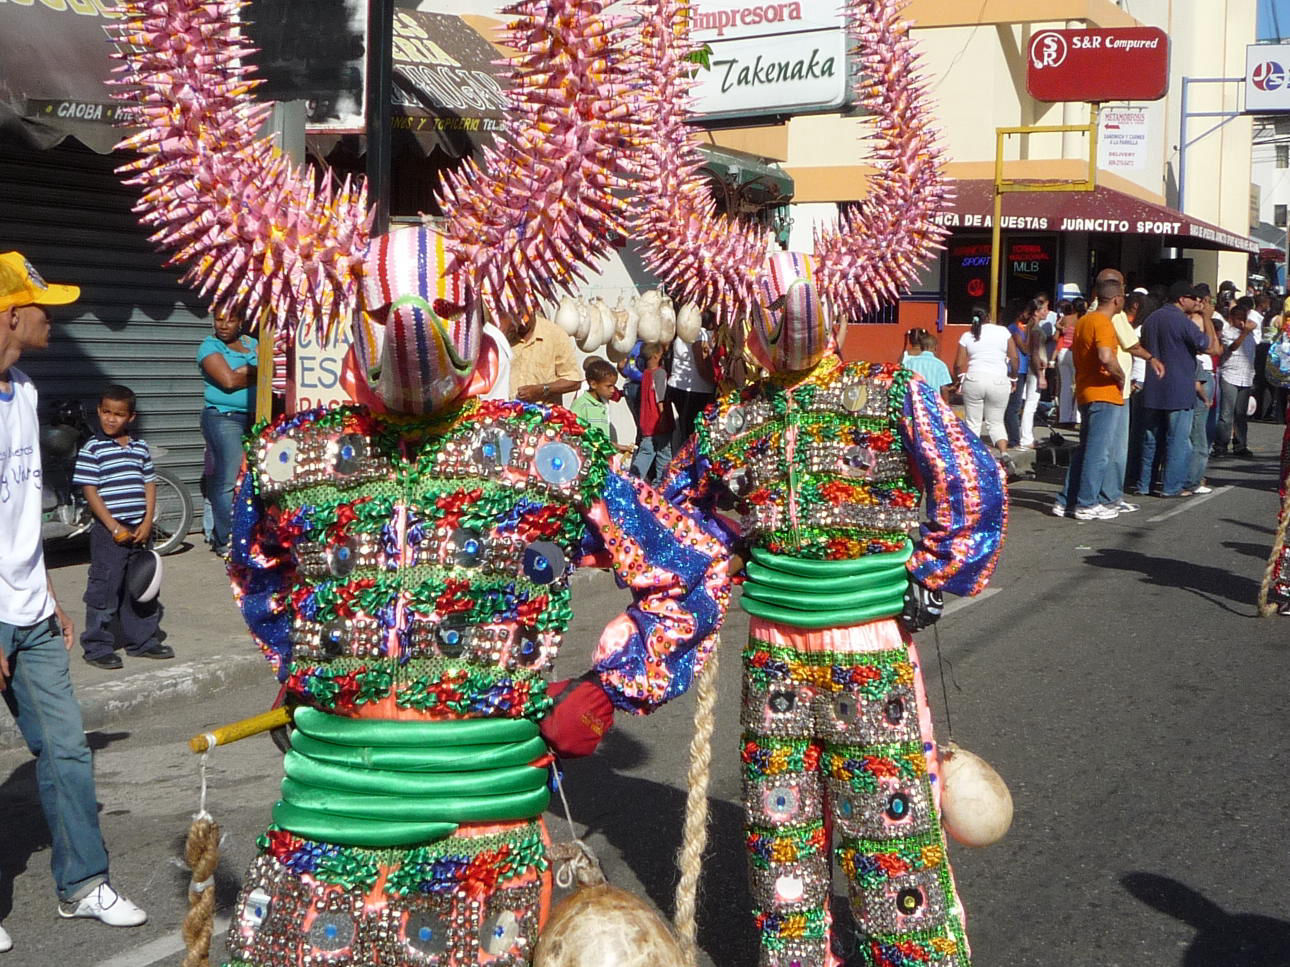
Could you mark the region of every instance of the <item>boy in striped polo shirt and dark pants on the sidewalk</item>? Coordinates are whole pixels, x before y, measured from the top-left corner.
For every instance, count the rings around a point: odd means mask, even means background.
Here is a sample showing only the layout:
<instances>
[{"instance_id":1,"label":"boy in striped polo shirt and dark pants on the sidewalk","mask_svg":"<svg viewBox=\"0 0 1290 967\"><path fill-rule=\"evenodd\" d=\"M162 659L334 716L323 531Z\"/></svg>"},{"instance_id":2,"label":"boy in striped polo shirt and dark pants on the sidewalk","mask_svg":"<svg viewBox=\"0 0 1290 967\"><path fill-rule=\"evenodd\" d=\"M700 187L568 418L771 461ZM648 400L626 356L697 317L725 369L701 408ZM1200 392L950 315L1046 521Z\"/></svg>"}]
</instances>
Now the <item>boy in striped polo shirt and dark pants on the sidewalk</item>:
<instances>
[{"instance_id":1,"label":"boy in striped polo shirt and dark pants on the sidewalk","mask_svg":"<svg viewBox=\"0 0 1290 967\"><path fill-rule=\"evenodd\" d=\"M81 649L85 660L97 668L121 667L112 636L116 616L128 655L174 658L174 649L157 641L157 600L134 601L125 585L130 561L147 552L156 505L152 454L147 444L130 437L133 422L134 393L124 386L107 387L98 401L102 429L81 447L72 477L94 513Z\"/></svg>"}]
</instances>

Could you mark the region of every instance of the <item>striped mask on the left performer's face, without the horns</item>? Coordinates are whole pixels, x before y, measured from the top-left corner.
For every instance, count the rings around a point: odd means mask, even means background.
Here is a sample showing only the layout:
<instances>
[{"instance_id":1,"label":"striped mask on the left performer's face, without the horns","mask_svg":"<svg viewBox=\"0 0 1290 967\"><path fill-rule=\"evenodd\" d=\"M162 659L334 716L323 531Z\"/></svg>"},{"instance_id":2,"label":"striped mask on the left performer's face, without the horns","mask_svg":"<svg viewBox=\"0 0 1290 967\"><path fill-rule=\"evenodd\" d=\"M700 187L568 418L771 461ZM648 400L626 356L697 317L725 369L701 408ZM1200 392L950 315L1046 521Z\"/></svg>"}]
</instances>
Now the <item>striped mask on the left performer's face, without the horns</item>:
<instances>
[{"instance_id":1,"label":"striped mask on the left performer's face, without the horns","mask_svg":"<svg viewBox=\"0 0 1290 967\"><path fill-rule=\"evenodd\" d=\"M426 414L461 397L480 355L484 313L439 232L418 226L374 239L362 278L355 362L395 413Z\"/></svg>"}]
</instances>

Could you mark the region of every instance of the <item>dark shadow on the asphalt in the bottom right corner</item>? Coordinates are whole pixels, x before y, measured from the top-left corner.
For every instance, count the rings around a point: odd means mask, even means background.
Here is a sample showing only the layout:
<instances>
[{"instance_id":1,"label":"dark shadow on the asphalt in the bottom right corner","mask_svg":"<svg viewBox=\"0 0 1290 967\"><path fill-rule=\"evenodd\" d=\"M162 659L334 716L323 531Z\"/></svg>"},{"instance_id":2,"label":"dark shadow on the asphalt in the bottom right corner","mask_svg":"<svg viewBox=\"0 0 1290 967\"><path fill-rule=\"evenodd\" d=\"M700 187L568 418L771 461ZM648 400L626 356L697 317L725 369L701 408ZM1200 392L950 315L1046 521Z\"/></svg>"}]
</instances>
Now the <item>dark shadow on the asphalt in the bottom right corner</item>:
<instances>
[{"instance_id":1,"label":"dark shadow on the asphalt in the bottom right corner","mask_svg":"<svg viewBox=\"0 0 1290 967\"><path fill-rule=\"evenodd\" d=\"M1156 873L1129 873L1120 882L1147 906L1196 930L1182 967L1285 967L1290 922L1228 913L1189 886Z\"/></svg>"}]
</instances>

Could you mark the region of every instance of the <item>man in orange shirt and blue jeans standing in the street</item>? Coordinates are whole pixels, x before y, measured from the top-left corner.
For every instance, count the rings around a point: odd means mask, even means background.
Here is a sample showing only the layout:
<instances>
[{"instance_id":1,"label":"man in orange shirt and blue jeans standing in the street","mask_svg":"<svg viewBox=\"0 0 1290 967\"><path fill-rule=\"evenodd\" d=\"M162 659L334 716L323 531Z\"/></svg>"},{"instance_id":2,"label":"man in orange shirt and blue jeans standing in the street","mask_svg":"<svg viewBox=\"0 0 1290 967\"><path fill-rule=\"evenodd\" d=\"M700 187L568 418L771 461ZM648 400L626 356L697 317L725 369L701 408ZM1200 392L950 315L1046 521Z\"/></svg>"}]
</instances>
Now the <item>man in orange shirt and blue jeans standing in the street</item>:
<instances>
[{"instance_id":1,"label":"man in orange shirt and blue jeans standing in the street","mask_svg":"<svg viewBox=\"0 0 1290 967\"><path fill-rule=\"evenodd\" d=\"M1120 343L1112 318L1125 306L1124 281L1103 277L1096 285L1098 307L1075 327L1075 398L1080 407L1080 447L1071 456L1066 485L1053 513L1075 508L1080 521L1109 521L1120 516L1115 507L1098 502L1102 477L1111 459L1111 445L1124 406L1125 371L1116 360Z\"/></svg>"}]
</instances>

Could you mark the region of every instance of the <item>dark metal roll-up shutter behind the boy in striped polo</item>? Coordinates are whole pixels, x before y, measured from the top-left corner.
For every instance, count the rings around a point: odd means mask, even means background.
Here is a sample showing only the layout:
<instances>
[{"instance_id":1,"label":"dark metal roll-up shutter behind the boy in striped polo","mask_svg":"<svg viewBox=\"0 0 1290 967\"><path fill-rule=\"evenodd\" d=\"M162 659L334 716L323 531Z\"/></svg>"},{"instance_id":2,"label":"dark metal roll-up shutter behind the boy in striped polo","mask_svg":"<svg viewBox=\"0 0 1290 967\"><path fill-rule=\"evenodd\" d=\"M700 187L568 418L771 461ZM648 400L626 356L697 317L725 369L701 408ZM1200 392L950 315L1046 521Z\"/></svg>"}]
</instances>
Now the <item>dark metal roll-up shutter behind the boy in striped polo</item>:
<instances>
[{"instance_id":1,"label":"dark metal roll-up shutter behind the boy in striped polo","mask_svg":"<svg viewBox=\"0 0 1290 967\"><path fill-rule=\"evenodd\" d=\"M160 463L188 484L200 525L196 351L210 322L130 210L135 190L112 170L124 160L72 142L48 151L0 144L0 251L17 249L49 281L81 286L80 302L53 309L49 349L19 367L36 383L43 411L54 400L97 402L108 383L133 389L138 436L166 449Z\"/></svg>"}]
</instances>

